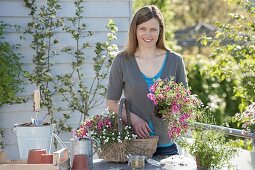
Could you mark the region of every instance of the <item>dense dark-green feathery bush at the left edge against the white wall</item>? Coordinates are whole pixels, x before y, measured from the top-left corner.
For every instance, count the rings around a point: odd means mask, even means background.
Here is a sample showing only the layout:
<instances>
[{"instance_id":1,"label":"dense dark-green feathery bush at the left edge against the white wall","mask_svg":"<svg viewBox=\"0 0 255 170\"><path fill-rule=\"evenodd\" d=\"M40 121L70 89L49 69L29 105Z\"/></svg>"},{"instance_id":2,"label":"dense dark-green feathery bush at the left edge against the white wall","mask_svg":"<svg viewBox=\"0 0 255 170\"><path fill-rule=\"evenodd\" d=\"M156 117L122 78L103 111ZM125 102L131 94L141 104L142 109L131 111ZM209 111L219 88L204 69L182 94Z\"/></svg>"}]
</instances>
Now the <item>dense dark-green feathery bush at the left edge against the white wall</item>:
<instances>
[{"instance_id":1,"label":"dense dark-green feathery bush at the left edge against the white wall","mask_svg":"<svg viewBox=\"0 0 255 170\"><path fill-rule=\"evenodd\" d=\"M24 85L21 56L15 52L19 45L11 45L4 40L6 29L16 31L19 27L0 22L0 106L24 101L16 96L22 92Z\"/></svg>"}]
</instances>

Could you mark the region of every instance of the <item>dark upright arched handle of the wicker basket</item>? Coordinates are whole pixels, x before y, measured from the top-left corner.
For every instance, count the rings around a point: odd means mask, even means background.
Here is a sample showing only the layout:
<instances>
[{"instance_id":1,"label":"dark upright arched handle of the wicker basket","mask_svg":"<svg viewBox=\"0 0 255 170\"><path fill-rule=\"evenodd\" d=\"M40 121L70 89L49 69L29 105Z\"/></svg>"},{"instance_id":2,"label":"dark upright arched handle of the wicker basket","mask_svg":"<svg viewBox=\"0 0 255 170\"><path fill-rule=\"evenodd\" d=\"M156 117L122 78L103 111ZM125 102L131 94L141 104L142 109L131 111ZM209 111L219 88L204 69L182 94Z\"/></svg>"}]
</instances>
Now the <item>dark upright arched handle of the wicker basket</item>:
<instances>
[{"instance_id":1,"label":"dark upright arched handle of the wicker basket","mask_svg":"<svg viewBox=\"0 0 255 170\"><path fill-rule=\"evenodd\" d=\"M121 98L119 103L120 104L119 104L119 111L118 111L118 132L119 132L119 135L122 137L123 136L122 111L123 111L124 104L125 104L128 126L131 126L131 117L130 117L129 103L128 103L127 99Z\"/></svg>"}]
</instances>

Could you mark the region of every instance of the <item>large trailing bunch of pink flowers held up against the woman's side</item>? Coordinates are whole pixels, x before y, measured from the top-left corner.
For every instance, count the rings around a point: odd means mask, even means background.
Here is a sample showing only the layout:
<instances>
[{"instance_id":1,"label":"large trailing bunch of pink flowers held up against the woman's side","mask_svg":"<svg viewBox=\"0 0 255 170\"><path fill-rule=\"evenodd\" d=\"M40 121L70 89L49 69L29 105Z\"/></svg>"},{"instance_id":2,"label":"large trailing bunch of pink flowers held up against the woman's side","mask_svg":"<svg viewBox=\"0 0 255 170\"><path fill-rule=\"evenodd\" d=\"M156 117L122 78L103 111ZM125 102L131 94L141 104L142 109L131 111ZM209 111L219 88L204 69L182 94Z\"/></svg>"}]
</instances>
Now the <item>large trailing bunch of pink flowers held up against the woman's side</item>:
<instances>
[{"instance_id":1,"label":"large trailing bunch of pink flowers held up against the woman's side","mask_svg":"<svg viewBox=\"0 0 255 170\"><path fill-rule=\"evenodd\" d=\"M155 114L168 123L168 136L177 139L187 132L188 123L195 118L201 102L191 95L190 90L174 78L158 79L151 87L147 97L155 105Z\"/></svg>"}]
</instances>

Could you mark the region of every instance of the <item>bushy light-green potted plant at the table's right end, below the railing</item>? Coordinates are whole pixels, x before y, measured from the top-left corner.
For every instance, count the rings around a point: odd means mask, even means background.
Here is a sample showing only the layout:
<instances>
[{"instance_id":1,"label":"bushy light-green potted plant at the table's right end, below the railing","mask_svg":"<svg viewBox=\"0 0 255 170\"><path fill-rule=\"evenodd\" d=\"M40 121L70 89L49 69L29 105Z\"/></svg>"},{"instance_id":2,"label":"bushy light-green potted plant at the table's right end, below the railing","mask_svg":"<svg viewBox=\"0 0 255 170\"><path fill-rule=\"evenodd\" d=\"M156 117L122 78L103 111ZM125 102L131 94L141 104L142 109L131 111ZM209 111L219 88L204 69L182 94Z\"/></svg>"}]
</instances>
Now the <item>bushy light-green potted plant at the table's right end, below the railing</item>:
<instances>
[{"instance_id":1,"label":"bushy light-green potted plant at the table's right end, below the railing","mask_svg":"<svg viewBox=\"0 0 255 170\"><path fill-rule=\"evenodd\" d=\"M197 166L214 169L231 167L230 159L237 154L237 149L226 142L223 132L218 130L196 130L192 132L193 142L186 145L195 157Z\"/></svg>"}]
</instances>

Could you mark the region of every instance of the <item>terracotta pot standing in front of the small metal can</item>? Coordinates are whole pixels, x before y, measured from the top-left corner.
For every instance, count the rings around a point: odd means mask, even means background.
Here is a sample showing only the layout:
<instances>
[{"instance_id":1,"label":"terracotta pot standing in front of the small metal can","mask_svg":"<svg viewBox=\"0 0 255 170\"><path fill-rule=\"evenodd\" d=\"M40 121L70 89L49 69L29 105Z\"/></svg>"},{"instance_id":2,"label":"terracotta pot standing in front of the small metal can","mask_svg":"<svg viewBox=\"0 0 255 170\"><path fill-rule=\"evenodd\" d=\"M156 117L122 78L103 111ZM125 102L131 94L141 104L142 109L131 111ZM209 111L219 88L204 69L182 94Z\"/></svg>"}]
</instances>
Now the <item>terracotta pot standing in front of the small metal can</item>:
<instances>
[{"instance_id":1,"label":"terracotta pot standing in front of the small metal can","mask_svg":"<svg viewBox=\"0 0 255 170\"><path fill-rule=\"evenodd\" d=\"M89 170L88 156L74 155L72 170Z\"/></svg>"}]
</instances>

